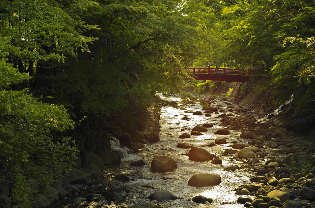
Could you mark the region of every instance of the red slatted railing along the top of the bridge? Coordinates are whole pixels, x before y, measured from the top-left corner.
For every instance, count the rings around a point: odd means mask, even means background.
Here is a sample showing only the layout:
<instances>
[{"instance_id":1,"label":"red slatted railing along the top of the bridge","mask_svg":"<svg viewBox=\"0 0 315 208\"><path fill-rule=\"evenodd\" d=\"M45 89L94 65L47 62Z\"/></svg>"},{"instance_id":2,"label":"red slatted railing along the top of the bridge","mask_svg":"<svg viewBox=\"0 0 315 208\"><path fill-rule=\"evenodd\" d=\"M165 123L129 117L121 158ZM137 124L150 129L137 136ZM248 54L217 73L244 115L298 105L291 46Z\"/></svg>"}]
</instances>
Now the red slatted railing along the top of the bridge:
<instances>
[{"instance_id":1,"label":"red slatted railing along the top of the bridge","mask_svg":"<svg viewBox=\"0 0 315 208\"><path fill-rule=\"evenodd\" d=\"M224 74L224 75L243 75L250 76L250 70L240 71L239 69L233 68L185 68L189 73L192 74ZM180 73L179 68L176 68L177 73Z\"/></svg>"}]
</instances>

